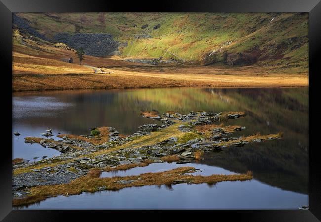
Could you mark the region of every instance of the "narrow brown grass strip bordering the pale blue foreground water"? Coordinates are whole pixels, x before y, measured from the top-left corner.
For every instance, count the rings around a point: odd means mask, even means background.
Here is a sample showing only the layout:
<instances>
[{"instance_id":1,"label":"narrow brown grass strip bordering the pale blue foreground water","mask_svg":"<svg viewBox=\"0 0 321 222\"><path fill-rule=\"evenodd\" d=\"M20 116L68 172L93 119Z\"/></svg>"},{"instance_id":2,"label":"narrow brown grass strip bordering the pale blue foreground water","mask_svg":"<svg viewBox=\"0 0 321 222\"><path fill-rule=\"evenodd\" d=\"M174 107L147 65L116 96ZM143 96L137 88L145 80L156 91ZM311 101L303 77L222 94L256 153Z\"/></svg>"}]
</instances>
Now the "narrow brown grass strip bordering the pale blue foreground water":
<instances>
[{"instance_id":1,"label":"narrow brown grass strip bordering the pale blue foreground water","mask_svg":"<svg viewBox=\"0 0 321 222\"><path fill-rule=\"evenodd\" d=\"M145 185L170 185L175 181L184 181L189 184L208 183L215 184L221 181L244 181L251 180L253 175L251 172L246 174L232 174L232 175L218 175L213 174L210 176L190 175L186 173L195 172L193 167L180 167L173 170L157 172L157 173L144 173L134 176L125 177L107 177L96 178L84 176L77 178L70 183L60 185L44 185L35 186L29 189L31 192L27 197L13 199L13 206L31 204L39 202L49 197L58 195L76 195L82 192L96 192L98 187L105 187L107 190L120 190L126 187L139 187ZM132 181L131 183L117 183L117 181L125 180Z\"/></svg>"}]
</instances>

